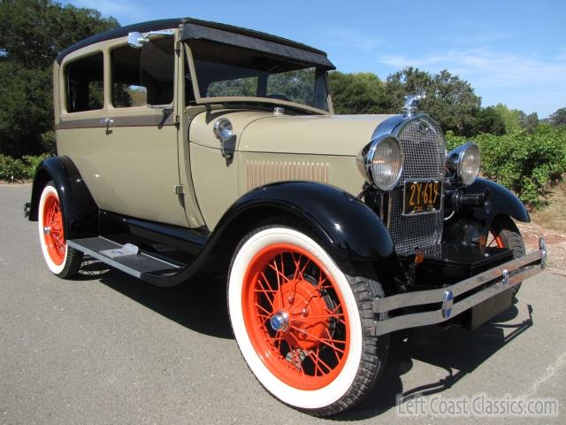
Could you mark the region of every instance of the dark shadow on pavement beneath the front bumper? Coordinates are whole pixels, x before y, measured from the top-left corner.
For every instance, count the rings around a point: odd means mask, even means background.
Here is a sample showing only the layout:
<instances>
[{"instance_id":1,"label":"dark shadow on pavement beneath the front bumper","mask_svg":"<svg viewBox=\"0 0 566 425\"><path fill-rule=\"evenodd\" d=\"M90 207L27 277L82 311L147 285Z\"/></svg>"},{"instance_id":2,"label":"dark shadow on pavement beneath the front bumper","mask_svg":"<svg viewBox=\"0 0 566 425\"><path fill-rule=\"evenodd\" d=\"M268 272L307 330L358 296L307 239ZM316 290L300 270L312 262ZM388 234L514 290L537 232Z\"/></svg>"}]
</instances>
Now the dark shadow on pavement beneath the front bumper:
<instances>
[{"instance_id":1,"label":"dark shadow on pavement beneath the front bumper","mask_svg":"<svg viewBox=\"0 0 566 425\"><path fill-rule=\"evenodd\" d=\"M456 326L428 326L395 332L391 335L389 357L379 383L362 403L333 419L357 421L372 418L409 398L451 388L501 347L532 327L532 305L526 305L526 309L526 319L517 320L519 310L513 305L474 331ZM435 377L430 383L403 388L401 377L412 369L415 360L439 367L445 373L440 373L443 376L438 380Z\"/></svg>"}]
</instances>

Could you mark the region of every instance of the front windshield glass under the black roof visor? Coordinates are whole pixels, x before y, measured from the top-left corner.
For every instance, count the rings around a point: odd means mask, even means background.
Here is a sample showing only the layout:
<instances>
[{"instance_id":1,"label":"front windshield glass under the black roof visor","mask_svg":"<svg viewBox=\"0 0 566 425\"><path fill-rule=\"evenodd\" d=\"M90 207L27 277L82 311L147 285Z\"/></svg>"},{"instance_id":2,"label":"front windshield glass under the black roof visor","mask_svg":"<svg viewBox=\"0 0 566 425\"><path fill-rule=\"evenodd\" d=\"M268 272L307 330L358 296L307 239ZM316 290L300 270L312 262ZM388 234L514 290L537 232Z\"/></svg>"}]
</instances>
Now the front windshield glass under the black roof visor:
<instances>
[{"instance_id":1,"label":"front windshield glass under the black roof visor","mask_svg":"<svg viewBox=\"0 0 566 425\"><path fill-rule=\"evenodd\" d=\"M216 42L189 46L200 97L264 97L328 111L323 68Z\"/></svg>"}]
</instances>

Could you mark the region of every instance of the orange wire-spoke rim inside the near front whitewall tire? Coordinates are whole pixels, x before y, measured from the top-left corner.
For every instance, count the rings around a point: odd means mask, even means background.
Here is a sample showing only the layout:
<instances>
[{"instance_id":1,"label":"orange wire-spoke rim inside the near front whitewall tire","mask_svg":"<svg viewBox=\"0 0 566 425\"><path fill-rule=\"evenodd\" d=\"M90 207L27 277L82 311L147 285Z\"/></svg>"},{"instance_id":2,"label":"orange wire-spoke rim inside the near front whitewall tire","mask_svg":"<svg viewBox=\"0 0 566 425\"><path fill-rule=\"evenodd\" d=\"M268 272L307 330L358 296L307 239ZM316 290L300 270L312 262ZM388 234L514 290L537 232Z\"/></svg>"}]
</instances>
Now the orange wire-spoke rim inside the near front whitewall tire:
<instances>
[{"instance_id":1,"label":"orange wire-spoke rim inside the near front whitewall tire","mask_svg":"<svg viewBox=\"0 0 566 425\"><path fill-rule=\"evenodd\" d=\"M348 312L338 285L310 252L288 243L258 251L242 287L249 339L264 365L299 390L324 388L348 359Z\"/></svg>"}]
</instances>

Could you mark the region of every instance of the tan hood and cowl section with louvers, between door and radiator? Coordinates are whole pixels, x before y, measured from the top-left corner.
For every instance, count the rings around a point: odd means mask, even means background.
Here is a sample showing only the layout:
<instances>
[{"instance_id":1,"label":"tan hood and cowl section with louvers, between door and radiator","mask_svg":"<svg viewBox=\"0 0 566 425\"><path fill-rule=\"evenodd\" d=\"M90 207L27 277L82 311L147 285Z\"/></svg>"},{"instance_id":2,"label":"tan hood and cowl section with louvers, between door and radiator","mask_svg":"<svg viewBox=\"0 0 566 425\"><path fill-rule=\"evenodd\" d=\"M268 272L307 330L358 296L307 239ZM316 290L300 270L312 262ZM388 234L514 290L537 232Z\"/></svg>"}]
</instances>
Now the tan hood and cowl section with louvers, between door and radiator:
<instances>
[{"instance_id":1,"label":"tan hood and cowl section with louvers, between door and radiator","mask_svg":"<svg viewBox=\"0 0 566 425\"><path fill-rule=\"evenodd\" d=\"M212 130L222 117L232 122L239 149L228 161ZM270 182L323 182L357 195L364 181L356 166L357 152L388 117L289 117L238 110L197 114L189 128L190 158L196 198L208 228L217 225L238 197ZM317 138L319 134L325 139ZM257 140L256 152L246 151L250 139Z\"/></svg>"}]
</instances>

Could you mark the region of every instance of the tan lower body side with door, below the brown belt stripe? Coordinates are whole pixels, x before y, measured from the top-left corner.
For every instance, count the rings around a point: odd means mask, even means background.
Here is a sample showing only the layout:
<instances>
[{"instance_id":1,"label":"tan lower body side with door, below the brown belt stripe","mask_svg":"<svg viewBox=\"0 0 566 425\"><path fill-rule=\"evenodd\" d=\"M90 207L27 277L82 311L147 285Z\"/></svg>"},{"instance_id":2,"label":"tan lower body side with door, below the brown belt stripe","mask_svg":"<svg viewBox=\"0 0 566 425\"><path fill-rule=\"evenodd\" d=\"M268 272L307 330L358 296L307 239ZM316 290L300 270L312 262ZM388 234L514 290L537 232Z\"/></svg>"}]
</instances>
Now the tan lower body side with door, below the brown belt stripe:
<instances>
[{"instance_id":1,"label":"tan lower body side with door, below the brown belt stripe","mask_svg":"<svg viewBox=\"0 0 566 425\"><path fill-rule=\"evenodd\" d=\"M68 155L105 210L187 226L179 184L177 128L80 128L57 131Z\"/></svg>"}]
</instances>

